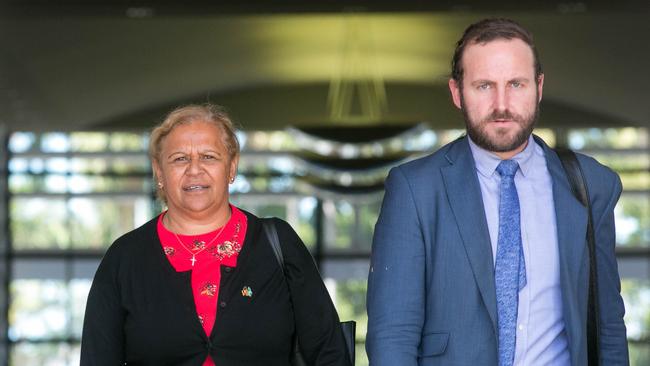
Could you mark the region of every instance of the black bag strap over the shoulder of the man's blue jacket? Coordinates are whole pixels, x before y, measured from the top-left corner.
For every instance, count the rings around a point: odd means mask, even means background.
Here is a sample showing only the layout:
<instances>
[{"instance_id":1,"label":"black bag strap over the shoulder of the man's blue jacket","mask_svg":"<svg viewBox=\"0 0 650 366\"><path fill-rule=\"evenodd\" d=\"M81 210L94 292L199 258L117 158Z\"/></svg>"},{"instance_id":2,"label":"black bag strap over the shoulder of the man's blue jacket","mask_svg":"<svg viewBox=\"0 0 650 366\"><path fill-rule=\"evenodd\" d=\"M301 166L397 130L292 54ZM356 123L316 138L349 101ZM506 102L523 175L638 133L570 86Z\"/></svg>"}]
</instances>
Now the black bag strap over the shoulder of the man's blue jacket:
<instances>
[{"instance_id":1,"label":"black bag strap over the shoulder of the man's blue jacket","mask_svg":"<svg viewBox=\"0 0 650 366\"><path fill-rule=\"evenodd\" d=\"M591 214L591 202L589 202L589 190L578 162L578 158L570 149L558 148L555 150L560 157L562 167L566 172L573 195L587 208L587 247L589 248L589 302L587 305L587 358L588 364L597 366L600 359L600 326L598 308L598 273L596 265L596 241L594 236L593 217Z\"/></svg>"}]
</instances>

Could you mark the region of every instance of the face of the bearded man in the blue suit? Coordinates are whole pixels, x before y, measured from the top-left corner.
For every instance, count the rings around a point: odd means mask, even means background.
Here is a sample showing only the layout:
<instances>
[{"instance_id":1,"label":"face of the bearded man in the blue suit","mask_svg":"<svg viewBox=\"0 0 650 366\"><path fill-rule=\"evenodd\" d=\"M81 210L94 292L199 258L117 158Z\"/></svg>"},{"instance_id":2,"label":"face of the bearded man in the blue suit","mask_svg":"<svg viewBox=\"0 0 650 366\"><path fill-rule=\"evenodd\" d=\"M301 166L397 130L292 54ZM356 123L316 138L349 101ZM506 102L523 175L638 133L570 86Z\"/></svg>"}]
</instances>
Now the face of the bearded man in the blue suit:
<instances>
[{"instance_id":1,"label":"face of the bearded man in the blue suit","mask_svg":"<svg viewBox=\"0 0 650 366\"><path fill-rule=\"evenodd\" d=\"M449 89L467 133L482 148L512 157L526 147L542 98L533 51L520 39L498 39L468 45L462 63L463 85L452 79Z\"/></svg>"}]
</instances>

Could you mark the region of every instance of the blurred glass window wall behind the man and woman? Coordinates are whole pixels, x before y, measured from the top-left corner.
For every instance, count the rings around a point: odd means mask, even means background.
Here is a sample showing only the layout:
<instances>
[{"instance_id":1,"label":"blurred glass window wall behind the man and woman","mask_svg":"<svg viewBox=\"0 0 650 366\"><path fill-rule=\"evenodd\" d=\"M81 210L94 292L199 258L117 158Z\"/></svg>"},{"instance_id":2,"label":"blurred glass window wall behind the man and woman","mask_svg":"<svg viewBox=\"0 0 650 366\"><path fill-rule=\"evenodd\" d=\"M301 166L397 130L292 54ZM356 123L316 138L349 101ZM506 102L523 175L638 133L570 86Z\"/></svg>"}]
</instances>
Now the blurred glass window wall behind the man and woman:
<instances>
[{"instance_id":1,"label":"blurred glass window wall behind the man and woman","mask_svg":"<svg viewBox=\"0 0 650 366\"><path fill-rule=\"evenodd\" d=\"M650 363L650 261L645 254L629 254L650 249L648 132L647 128L590 128L567 134L570 147L583 149L612 167L623 181L625 191L615 215L617 242L620 252L626 253L618 259L633 365ZM408 137L363 144L313 139L306 146L287 131L238 133L244 152L239 175L230 186L232 202L260 217L285 219L316 254L341 319L357 322L359 366L368 364L364 349L368 257L383 192L340 194L315 182L371 186L381 182L386 171L316 169L296 152L344 158L393 152L415 156L464 133L426 127ZM535 134L551 146L560 136L551 129L536 129ZM8 281L9 326L4 332L10 342L10 365L79 364L86 297L102 253L160 208L153 199L147 145L147 134L129 132L10 136L13 262ZM317 232L319 227L322 233ZM319 235L323 247L317 248ZM52 256L34 259L31 250L51 250ZM76 251L96 256L76 257Z\"/></svg>"}]
</instances>

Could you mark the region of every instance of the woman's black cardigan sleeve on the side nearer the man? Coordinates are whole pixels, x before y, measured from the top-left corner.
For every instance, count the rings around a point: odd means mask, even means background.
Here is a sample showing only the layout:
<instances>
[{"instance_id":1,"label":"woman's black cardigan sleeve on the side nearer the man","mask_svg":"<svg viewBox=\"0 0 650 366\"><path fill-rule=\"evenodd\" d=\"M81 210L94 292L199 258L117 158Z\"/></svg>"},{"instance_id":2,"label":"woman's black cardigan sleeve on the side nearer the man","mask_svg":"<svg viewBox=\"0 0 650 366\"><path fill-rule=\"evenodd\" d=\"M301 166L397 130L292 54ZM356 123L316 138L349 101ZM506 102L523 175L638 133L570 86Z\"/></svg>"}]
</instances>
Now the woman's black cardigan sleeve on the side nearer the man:
<instances>
[{"instance_id":1,"label":"woman's black cardigan sleeve on the side nearer the man","mask_svg":"<svg viewBox=\"0 0 650 366\"><path fill-rule=\"evenodd\" d=\"M300 351L308 365L350 366L339 316L314 259L300 237L276 220Z\"/></svg>"}]
</instances>

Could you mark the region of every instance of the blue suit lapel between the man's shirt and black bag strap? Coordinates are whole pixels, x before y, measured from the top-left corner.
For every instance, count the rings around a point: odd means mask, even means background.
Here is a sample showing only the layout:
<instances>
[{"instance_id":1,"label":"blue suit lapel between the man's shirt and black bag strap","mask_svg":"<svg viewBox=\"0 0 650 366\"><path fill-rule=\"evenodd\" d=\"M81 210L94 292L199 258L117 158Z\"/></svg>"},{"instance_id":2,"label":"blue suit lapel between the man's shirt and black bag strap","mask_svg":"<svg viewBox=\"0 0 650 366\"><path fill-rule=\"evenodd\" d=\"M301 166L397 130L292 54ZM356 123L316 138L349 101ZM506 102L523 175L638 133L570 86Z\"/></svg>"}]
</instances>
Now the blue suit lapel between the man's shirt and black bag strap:
<instances>
[{"instance_id":1,"label":"blue suit lapel between the man's shirt and black bag strap","mask_svg":"<svg viewBox=\"0 0 650 366\"><path fill-rule=\"evenodd\" d=\"M571 354L576 355L576 340L582 333L580 321L581 304L577 300L580 270L586 250L587 212L585 207L573 196L571 186L562 168L559 157L543 141L536 139L544 147L546 164L553 181L553 200L557 224L557 242L560 255L560 286L565 329Z\"/></svg>"}]
</instances>

